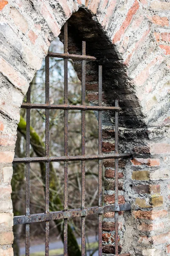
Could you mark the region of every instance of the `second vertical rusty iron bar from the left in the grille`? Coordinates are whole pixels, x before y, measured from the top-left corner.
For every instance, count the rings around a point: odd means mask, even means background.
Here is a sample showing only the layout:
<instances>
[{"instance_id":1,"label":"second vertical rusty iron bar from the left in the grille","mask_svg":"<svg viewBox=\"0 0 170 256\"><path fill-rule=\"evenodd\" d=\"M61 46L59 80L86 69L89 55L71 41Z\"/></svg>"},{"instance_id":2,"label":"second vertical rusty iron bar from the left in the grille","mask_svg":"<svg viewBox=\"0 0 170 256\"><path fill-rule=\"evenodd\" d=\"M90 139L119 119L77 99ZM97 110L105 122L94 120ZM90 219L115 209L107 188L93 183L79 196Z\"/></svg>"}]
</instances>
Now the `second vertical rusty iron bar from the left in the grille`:
<instances>
[{"instance_id":1,"label":"second vertical rusty iron bar from the left in the grille","mask_svg":"<svg viewBox=\"0 0 170 256\"><path fill-rule=\"evenodd\" d=\"M49 57L45 58L45 103L49 104ZM45 109L45 156L50 156L49 150L49 109ZM45 163L45 212L49 212L50 163ZM45 256L49 256L49 221L45 221Z\"/></svg>"}]
</instances>

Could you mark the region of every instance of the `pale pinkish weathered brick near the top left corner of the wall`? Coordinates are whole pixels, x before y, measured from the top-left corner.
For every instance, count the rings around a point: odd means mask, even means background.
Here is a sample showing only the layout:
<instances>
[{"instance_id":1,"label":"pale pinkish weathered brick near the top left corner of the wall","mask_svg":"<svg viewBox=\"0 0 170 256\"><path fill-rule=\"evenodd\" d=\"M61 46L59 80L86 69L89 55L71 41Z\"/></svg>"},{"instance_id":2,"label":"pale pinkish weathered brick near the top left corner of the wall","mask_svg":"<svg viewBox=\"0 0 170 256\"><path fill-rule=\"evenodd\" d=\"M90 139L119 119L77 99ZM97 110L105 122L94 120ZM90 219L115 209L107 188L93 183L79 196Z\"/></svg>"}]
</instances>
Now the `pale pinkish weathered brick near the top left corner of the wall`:
<instances>
[{"instance_id":1,"label":"pale pinkish weathered brick near the top left corner of the wall","mask_svg":"<svg viewBox=\"0 0 170 256\"><path fill-rule=\"evenodd\" d=\"M17 9L11 8L10 16L14 20L16 26L25 34L28 29L28 23L23 15L21 15Z\"/></svg>"}]
</instances>

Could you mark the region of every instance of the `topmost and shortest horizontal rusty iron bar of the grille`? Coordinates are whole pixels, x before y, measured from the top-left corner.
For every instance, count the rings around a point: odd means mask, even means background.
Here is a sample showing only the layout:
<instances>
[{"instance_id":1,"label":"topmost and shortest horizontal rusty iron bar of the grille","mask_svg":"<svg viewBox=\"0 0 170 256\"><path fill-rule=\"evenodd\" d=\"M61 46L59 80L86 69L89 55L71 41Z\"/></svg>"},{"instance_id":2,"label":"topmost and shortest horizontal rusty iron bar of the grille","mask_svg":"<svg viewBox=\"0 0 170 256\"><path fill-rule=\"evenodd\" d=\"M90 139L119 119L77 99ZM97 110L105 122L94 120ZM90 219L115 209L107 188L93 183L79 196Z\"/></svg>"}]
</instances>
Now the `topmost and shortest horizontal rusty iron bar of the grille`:
<instances>
[{"instance_id":1,"label":"topmost and shortest horizontal rusty iron bar of the grille","mask_svg":"<svg viewBox=\"0 0 170 256\"><path fill-rule=\"evenodd\" d=\"M77 61L96 61L96 58L94 56L59 53L59 52L48 52L47 56L56 57L56 58L69 58Z\"/></svg>"}]
</instances>

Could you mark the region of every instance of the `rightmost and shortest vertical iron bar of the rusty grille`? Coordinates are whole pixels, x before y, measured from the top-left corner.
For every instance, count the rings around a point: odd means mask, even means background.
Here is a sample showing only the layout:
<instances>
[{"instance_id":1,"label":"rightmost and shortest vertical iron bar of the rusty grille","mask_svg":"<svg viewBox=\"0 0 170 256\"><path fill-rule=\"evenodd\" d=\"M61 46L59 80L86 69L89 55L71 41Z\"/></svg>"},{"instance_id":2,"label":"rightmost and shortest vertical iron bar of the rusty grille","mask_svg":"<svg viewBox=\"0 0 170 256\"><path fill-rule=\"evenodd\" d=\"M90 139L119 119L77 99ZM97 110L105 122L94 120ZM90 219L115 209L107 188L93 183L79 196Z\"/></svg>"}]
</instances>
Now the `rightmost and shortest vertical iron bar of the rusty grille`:
<instances>
[{"instance_id":1,"label":"rightmost and shortest vertical iron bar of the rusty grille","mask_svg":"<svg viewBox=\"0 0 170 256\"><path fill-rule=\"evenodd\" d=\"M115 100L115 107L119 107L119 101ZM115 112L115 153L119 152L119 112ZM115 159L115 205L118 204L118 165L119 159ZM118 212L115 212L115 255L118 255L119 224Z\"/></svg>"}]
</instances>

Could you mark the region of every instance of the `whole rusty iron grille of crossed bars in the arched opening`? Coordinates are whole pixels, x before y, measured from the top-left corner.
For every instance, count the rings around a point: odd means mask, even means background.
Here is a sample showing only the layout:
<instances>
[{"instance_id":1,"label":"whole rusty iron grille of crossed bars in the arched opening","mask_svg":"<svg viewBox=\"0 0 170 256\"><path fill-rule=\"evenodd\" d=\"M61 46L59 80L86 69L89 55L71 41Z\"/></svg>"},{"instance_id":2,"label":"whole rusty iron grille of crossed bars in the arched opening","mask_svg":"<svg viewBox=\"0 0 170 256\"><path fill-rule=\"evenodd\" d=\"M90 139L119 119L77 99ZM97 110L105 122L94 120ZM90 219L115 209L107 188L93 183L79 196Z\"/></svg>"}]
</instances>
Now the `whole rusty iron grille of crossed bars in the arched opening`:
<instances>
[{"instance_id":1,"label":"whole rusty iron grille of crossed bars in the arched opening","mask_svg":"<svg viewBox=\"0 0 170 256\"><path fill-rule=\"evenodd\" d=\"M85 62L96 61L93 56L86 55L85 41L82 42L82 55L68 54L68 26L64 25L64 53L48 52L45 58L45 104L31 104L31 90L28 89L27 101L21 108L26 108L26 157L14 158L13 163L26 163L26 215L15 216L14 224L26 224L26 256L29 256L30 224L45 221L45 256L49 255L49 221L64 219L64 256L68 255L68 219L81 217L82 219L82 256L85 256L85 216L98 215L99 223L99 256L102 256L102 214L115 212L115 255L130 256L130 253L118 253L118 213L130 210L130 204L118 204L118 163L119 158L130 157L130 154L119 154L119 102L115 100L115 107L102 106L102 66L99 66L99 104L98 106L85 105ZM50 105L49 101L49 57L64 59L64 105ZM68 58L82 61L82 105L68 105ZM33 108L45 109L45 157L30 157L30 110ZM49 111L50 109L64 110L64 156L50 157L49 149ZM68 155L68 110L82 111L82 155ZM98 155L85 155L85 111L98 111L99 150ZM115 111L115 154L102 154L102 111ZM115 204L102 206L102 159L115 159ZM68 161L82 161L82 207L68 210ZM99 160L98 166L98 207L85 208L85 161ZM49 212L49 173L50 162L64 161L64 210ZM45 213L30 215L30 163L45 162Z\"/></svg>"}]
</instances>

